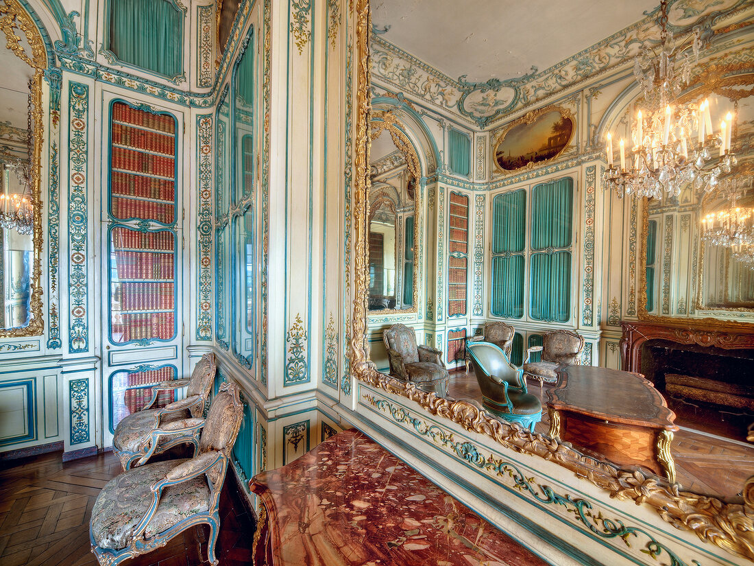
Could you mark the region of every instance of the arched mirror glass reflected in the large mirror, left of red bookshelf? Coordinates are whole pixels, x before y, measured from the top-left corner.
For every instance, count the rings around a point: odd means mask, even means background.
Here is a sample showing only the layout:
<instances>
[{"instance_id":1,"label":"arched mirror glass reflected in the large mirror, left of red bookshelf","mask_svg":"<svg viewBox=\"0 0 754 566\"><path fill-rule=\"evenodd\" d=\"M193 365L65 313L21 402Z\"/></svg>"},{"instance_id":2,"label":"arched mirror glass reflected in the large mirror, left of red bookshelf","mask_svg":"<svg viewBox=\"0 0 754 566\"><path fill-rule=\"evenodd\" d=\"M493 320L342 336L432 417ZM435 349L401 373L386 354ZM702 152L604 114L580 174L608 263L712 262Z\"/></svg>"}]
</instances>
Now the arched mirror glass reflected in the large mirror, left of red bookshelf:
<instances>
[{"instance_id":1,"label":"arched mirror glass reflected in the large mirror, left of red bookshelf","mask_svg":"<svg viewBox=\"0 0 754 566\"><path fill-rule=\"evenodd\" d=\"M416 179L391 134L372 140L369 310L409 309L415 288Z\"/></svg>"}]
</instances>

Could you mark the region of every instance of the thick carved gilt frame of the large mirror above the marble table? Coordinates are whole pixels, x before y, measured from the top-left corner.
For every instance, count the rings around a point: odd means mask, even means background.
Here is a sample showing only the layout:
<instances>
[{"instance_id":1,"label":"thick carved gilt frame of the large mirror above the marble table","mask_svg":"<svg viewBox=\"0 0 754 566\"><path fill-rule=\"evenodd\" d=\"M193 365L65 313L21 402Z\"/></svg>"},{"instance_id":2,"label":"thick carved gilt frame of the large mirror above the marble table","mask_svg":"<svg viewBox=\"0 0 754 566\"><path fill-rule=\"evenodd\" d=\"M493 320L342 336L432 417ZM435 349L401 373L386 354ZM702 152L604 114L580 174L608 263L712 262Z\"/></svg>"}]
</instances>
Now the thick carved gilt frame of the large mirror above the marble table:
<instances>
[{"instance_id":1,"label":"thick carved gilt frame of the large mirror above the marble table","mask_svg":"<svg viewBox=\"0 0 754 566\"><path fill-rule=\"evenodd\" d=\"M734 555L754 560L754 476L743 486L743 503L726 503L715 497L680 491L678 484L641 471L621 469L610 463L584 456L547 435L535 434L521 426L489 417L467 401L438 398L381 374L368 359L366 335L367 260L366 235L369 218L369 0L357 0L357 92L354 138L354 189L352 226L354 229L354 302L350 343L351 372L358 380L421 405L425 411L443 417L470 432L488 436L505 448L550 460L590 481L608 497L633 500L653 508L674 527L694 532L708 543ZM646 242L644 242L644 245ZM727 323L726 323L727 324Z\"/></svg>"}]
</instances>

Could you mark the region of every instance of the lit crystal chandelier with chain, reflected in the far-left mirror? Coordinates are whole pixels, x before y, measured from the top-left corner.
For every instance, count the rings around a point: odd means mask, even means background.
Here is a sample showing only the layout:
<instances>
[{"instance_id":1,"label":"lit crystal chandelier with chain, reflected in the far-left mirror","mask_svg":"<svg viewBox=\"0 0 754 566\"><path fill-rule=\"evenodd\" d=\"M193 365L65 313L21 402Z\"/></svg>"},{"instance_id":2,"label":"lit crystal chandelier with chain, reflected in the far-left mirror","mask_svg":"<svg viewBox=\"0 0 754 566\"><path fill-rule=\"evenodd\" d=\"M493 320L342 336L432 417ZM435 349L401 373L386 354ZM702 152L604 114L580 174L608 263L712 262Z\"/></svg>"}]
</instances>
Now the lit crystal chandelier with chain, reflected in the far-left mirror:
<instances>
[{"instance_id":1,"label":"lit crystal chandelier with chain, reflected in the far-left mirror","mask_svg":"<svg viewBox=\"0 0 754 566\"><path fill-rule=\"evenodd\" d=\"M26 160L15 155L4 155L5 168L13 170L23 187L21 195L8 194L8 187L0 192L0 227L14 229L20 234L29 235L34 231L34 203L31 195L32 183L32 82L29 81L29 103L26 118ZM5 152L4 152L5 153ZM5 180L2 180L5 183Z\"/></svg>"}]
</instances>

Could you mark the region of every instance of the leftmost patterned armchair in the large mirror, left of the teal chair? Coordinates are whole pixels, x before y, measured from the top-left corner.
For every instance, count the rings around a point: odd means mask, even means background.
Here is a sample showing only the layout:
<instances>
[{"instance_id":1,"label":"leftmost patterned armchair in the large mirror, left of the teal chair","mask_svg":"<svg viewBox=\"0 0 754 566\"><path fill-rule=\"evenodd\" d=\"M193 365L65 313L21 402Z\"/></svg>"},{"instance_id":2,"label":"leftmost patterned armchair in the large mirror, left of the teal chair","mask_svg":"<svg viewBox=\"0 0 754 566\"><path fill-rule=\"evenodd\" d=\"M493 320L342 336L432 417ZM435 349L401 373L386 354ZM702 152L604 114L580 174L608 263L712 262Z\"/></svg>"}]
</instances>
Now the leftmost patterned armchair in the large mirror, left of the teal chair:
<instances>
[{"instance_id":1,"label":"leftmost patterned armchair in the large mirror, left of the teal chair","mask_svg":"<svg viewBox=\"0 0 754 566\"><path fill-rule=\"evenodd\" d=\"M448 371L443 365L443 352L431 346L416 346L416 334L405 325L392 325L382 332L382 340L388 349L392 377L415 383L422 391L446 396Z\"/></svg>"}]
</instances>

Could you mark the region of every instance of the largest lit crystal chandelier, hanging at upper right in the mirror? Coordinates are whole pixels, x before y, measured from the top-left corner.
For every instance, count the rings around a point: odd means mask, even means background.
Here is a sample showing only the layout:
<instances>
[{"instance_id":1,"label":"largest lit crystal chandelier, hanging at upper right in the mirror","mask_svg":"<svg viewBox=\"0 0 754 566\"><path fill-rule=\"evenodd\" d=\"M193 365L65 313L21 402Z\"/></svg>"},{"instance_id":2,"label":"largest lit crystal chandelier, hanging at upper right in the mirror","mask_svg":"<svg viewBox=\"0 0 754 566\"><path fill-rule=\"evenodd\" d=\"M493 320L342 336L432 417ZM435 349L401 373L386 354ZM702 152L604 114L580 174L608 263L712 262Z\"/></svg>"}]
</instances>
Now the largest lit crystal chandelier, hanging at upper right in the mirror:
<instances>
[{"instance_id":1,"label":"largest lit crystal chandelier, hanging at upper right in the mirror","mask_svg":"<svg viewBox=\"0 0 754 566\"><path fill-rule=\"evenodd\" d=\"M642 88L645 108L636 114L631 146L627 147L623 139L618 143L618 163L613 162L614 141L611 134L607 135L609 167L602 181L619 198L677 196L687 183L709 192L737 162L731 152L731 112L715 131L707 100L678 100L698 61L702 47L699 30L694 30L691 44L676 48L667 31L667 0L662 0L660 9L661 51L655 57L647 52L636 57L633 72Z\"/></svg>"}]
</instances>

